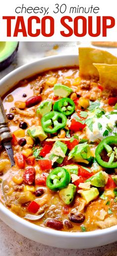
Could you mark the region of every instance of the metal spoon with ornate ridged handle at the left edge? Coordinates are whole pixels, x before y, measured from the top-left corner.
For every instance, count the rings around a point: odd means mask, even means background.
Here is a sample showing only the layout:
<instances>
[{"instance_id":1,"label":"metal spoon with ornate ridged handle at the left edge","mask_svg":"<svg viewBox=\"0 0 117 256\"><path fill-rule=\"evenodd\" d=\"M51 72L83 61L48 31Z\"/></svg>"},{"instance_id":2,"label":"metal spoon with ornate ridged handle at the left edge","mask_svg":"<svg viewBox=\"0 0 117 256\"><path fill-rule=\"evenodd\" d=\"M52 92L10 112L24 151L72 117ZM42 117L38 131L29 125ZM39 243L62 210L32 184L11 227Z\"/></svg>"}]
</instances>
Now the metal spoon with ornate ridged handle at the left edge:
<instances>
[{"instance_id":1,"label":"metal spoon with ornate ridged handle at the left edge","mask_svg":"<svg viewBox=\"0 0 117 256\"><path fill-rule=\"evenodd\" d=\"M12 135L10 133L10 130L8 128L8 120L5 114L5 110L0 98L0 144L3 144L10 163L11 163L11 167L13 165L15 165L14 162L14 158L13 158L13 150L12 150L12 146L11 146L11 139L12 139Z\"/></svg>"}]
</instances>

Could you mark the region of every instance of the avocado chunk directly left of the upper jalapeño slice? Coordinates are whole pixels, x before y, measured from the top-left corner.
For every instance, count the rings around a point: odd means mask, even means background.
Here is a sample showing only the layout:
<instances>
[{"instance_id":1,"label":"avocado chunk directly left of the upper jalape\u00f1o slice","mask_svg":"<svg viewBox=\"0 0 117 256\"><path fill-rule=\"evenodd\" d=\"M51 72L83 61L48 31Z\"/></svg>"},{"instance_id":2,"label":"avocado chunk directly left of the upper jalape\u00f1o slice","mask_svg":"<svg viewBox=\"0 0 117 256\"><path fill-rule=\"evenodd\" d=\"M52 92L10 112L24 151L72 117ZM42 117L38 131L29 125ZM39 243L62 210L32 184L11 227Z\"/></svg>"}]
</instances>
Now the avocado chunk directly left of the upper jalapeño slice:
<instances>
[{"instance_id":1,"label":"avocado chunk directly left of the upper jalape\u00f1o slice","mask_svg":"<svg viewBox=\"0 0 117 256\"><path fill-rule=\"evenodd\" d=\"M48 100L47 100L47 101L43 101L43 102L41 102L41 104L39 105L39 107L38 107L36 113L37 113L37 115L40 114L41 116L43 116L43 115L45 115L46 113L50 112L51 109L52 109L52 101L48 101Z\"/></svg>"}]
</instances>

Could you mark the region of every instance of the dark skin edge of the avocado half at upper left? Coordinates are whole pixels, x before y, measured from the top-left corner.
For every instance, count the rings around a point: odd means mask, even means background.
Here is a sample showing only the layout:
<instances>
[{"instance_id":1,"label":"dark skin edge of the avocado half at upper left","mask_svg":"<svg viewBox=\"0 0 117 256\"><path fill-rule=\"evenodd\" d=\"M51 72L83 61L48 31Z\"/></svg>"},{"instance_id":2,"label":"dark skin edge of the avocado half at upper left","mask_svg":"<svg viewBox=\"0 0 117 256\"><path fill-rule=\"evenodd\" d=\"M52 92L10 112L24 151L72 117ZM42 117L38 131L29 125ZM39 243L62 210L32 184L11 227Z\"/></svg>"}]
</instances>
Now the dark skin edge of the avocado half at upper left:
<instances>
[{"instance_id":1,"label":"dark skin edge of the avocado half at upper left","mask_svg":"<svg viewBox=\"0 0 117 256\"><path fill-rule=\"evenodd\" d=\"M15 50L12 52L12 54L8 58L6 58L6 59L4 59L0 62L0 71L5 69L6 67L8 67L12 63L13 59L16 56L18 46L19 46L19 42L18 42L17 47L15 48Z\"/></svg>"}]
</instances>

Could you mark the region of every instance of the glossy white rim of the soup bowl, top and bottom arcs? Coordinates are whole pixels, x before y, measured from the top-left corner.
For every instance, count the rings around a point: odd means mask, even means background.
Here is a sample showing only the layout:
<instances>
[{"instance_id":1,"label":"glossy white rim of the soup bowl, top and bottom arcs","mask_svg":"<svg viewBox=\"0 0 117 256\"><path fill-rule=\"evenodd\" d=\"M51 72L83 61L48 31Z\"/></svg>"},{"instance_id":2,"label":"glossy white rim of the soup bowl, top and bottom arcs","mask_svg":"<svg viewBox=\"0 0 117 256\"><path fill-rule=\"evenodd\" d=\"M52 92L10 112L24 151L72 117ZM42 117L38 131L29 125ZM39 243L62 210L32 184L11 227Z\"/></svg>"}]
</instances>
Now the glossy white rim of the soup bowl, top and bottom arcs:
<instances>
[{"instance_id":1,"label":"glossy white rim of the soup bowl, top and bottom arcs","mask_svg":"<svg viewBox=\"0 0 117 256\"><path fill-rule=\"evenodd\" d=\"M70 57L78 57L78 54L59 54L59 55L54 55L54 56L48 56L48 57L43 57L43 58L40 58L39 60L36 60L36 61L33 61L31 63L28 63L28 64L24 64L16 69L14 69L13 71L11 71L10 73L6 74L4 77L2 77L0 79L0 86L2 86L2 83L4 83L5 81L7 81L9 78L11 78L14 74L17 74L18 72L21 72L22 70L26 70L28 69L29 67L31 67L32 65L37 65L39 64L40 62L43 62L45 60L53 60L53 59L58 59L58 58L70 58ZM67 65L70 67L70 65ZM76 66L76 65L75 65ZM60 67L60 66L59 66ZM59 68L57 67L57 68ZM63 66L61 66L63 67ZM56 68L56 67L55 67ZM39 68L40 69L40 68ZM49 68L45 68L44 69L45 71L46 70L49 70ZM40 72L43 72L43 71L39 71ZM38 73L38 72L36 72ZM34 74L36 74L34 73ZM33 76L33 74L31 74L30 76L27 76L27 77L31 77ZM27 77L24 77L24 78L27 78ZM22 79L24 79L22 78ZM17 84L18 82L16 82ZM14 86L14 84L13 84ZM12 87L13 87L12 86ZM8 218L10 218L10 220L12 221L15 221L16 223L18 224L21 224L23 225L24 227L26 228L30 228L30 230L35 230L37 232L40 232L42 234L47 234L47 235L53 235L55 237L60 237L60 238L93 238L94 236L95 237L100 237L102 235L108 235L108 234L112 234L114 232L117 232L117 225L115 226L112 226L110 228L106 228L106 229L99 229L99 230L95 230L95 231L88 231L88 232L66 232L66 231L57 231L57 230L54 230L54 229L50 229L50 228L46 228L46 227L42 227L42 226L38 226L34 223L31 223L31 222L28 222L27 220L17 216L16 214L14 214L13 212L11 212L9 209L7 209L1 202L0 202L0 212L2 212L2 214L4 214L5 216L7 216ZM1 218L2 219L2 218ZM3 219L2 219L3 220Z\"/></svg>"}]
</instances>

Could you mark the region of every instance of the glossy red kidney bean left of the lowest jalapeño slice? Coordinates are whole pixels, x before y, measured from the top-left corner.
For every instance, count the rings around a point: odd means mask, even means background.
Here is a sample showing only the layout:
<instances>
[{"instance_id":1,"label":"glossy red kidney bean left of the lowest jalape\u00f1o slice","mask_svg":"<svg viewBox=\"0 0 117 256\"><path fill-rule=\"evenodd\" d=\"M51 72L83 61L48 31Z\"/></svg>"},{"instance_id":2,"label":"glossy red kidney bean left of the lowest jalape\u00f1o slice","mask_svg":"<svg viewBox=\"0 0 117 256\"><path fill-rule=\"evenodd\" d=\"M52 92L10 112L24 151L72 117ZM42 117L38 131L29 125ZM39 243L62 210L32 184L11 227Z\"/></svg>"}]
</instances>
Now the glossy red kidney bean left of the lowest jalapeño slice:
<instances>
[{"instance_id":1,"label":"glossy red kidney bean left of the lowest jalape\u00f1o slice","mask_svg":"<svg viewBox=\"0 0 117 256\"><path fill-rule=\"evenodd\" d=\"M23 173L23 181L27 185L32 185L35 181L35 168L28 167Z\"/></svg>"}]
</instances>

